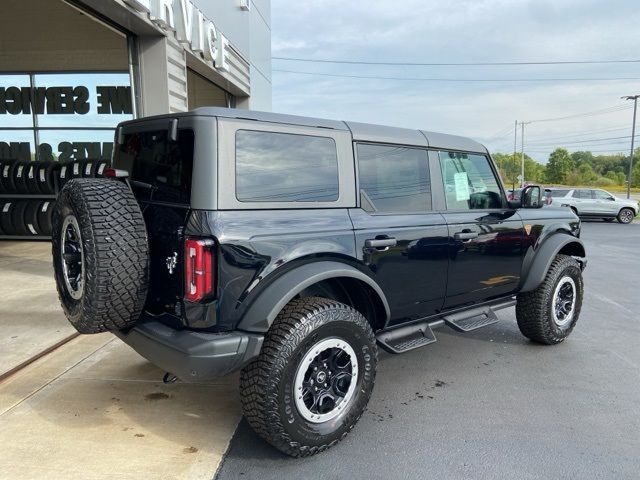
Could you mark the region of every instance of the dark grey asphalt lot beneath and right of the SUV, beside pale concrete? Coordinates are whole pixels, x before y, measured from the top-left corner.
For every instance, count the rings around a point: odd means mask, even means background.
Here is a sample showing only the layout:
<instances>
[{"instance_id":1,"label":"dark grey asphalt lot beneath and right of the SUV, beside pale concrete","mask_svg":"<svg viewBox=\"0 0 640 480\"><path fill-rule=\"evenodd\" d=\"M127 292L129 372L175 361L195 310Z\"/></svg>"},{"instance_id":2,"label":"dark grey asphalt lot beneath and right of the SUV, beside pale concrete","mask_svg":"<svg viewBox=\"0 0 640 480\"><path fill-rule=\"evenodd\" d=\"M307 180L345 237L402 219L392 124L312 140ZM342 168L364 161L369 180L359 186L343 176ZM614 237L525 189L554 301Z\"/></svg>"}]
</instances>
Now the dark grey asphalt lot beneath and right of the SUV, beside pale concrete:
<instances>
[{"instance_id":1,"label":"dark grey asphalt lot beneath and right of the SUV, beside pale concrete","mask_svg":"<svg viewBox=\"0 0 640 480\"><path fill-rule=\"evenodd\" d=\"M365 415L333 449L292 459L243 421L217 478L637 479L640 224L585 222L589 264L567 341L521 336L514 309L475 333L380 354Z\"/></svg>"}]
</instances>

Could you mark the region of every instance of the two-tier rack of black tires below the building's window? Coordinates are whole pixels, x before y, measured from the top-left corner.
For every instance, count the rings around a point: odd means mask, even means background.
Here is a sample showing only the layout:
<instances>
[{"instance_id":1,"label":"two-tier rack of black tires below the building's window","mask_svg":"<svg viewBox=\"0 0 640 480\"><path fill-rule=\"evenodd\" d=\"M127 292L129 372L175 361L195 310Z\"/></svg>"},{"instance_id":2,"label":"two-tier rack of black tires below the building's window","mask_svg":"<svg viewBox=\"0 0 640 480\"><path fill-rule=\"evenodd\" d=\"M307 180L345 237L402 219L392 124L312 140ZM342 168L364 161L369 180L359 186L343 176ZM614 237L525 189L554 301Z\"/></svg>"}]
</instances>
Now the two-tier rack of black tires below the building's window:
<instances>
[{"instance_id":1,"label":"two-tier rack of black tires below the building's window","mask_svg":"<svg viewBox=\"0 0 640 480\"><path fill-rule=\"evenodd\" d=\"M0 239L51 237L53 203L72 178L103 175L107 160L0 160Z\"/></svg>"}]
</instances>

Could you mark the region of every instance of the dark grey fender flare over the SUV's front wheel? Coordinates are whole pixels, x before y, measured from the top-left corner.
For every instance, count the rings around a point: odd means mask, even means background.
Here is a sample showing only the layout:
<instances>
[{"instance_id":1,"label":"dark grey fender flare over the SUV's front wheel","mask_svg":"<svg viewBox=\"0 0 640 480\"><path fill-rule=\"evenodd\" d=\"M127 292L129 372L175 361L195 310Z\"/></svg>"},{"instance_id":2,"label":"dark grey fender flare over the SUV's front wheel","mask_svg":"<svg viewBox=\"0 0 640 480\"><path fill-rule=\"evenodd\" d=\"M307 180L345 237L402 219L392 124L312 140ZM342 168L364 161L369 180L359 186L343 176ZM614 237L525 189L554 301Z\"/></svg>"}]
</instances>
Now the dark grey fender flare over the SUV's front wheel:
<instances>
[{"instance_id":1,"label":"dark grey fender flare over the SUV's front wheel","mask_svg":"<svg viewBox=\"0 0 640 480\"><path fill-rule=\"evenodd\" d=\"M572 252L569 255L583 258L583 266L586 264L586 254L582 240L568 233L551 235L540 245L529 264L529 269L524 272L520 292L535 290L543 282L553 259L565 247L568 247L568 250Z\"/></svg>"}]
</instances>

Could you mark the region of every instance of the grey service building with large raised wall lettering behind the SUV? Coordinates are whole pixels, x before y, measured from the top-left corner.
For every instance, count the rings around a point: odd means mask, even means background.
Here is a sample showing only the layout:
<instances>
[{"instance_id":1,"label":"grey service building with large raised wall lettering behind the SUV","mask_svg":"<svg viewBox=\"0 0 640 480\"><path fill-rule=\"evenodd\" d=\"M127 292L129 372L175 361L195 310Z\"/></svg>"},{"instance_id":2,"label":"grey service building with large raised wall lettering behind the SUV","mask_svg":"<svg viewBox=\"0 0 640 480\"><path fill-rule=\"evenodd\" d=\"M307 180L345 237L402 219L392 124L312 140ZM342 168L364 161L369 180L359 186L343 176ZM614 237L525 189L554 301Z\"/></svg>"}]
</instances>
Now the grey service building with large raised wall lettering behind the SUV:
<instances>
[{"instance_id":1,"label":"grey service building with large raised wall lettering behind the SUV","mask_svg":"<svg viewBox=\"0 0 640 480\"><path fill-rule=\"evenodd\" d=\"M104 158L126 119L271 109L270 0L4 0L0 160Z\"/></svg>"}]
</instances>

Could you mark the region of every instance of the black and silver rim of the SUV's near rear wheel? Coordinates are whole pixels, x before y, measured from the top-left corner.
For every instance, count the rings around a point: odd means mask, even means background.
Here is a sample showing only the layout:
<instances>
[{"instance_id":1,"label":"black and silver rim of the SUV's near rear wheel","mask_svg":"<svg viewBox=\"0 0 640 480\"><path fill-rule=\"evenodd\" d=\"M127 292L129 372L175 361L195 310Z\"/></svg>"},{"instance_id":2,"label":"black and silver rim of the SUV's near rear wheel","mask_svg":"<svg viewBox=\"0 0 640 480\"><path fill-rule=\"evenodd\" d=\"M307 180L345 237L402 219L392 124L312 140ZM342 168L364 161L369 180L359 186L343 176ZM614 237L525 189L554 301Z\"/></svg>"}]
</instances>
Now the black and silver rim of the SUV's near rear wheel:
<instances>
[{"instance_id":1,"label":"black and silver rim of the SUV's near rear wheel","mask_svg":"<svg viewBox=\"0 0 640 480\"><path fill-rule=\"evenodd\" d=\"M296 372L294 394L300 415L313 423L331 420L345 410L355 393L358 359L339 338L311 347Z\"/></svg>"}]
</instances>

